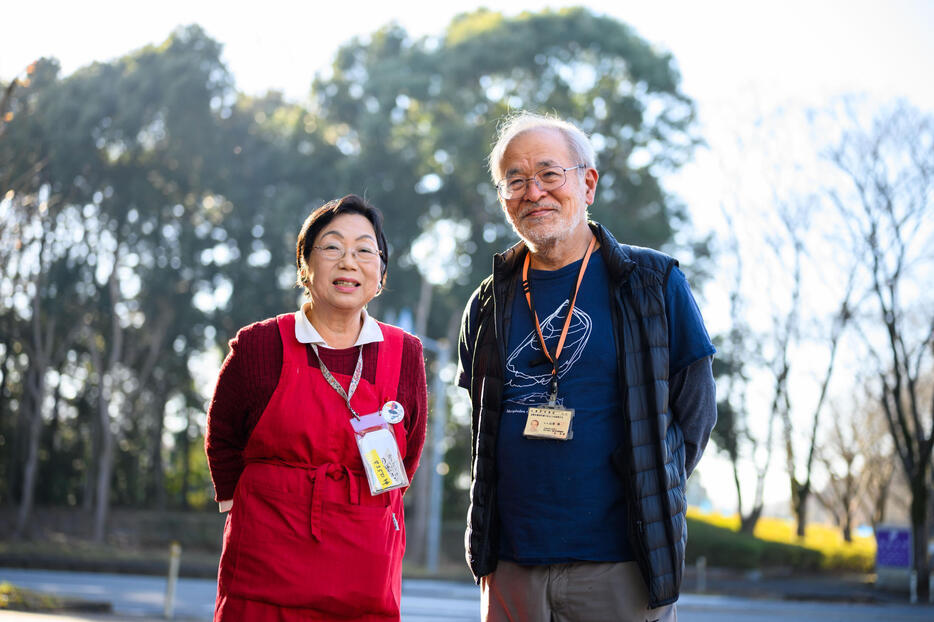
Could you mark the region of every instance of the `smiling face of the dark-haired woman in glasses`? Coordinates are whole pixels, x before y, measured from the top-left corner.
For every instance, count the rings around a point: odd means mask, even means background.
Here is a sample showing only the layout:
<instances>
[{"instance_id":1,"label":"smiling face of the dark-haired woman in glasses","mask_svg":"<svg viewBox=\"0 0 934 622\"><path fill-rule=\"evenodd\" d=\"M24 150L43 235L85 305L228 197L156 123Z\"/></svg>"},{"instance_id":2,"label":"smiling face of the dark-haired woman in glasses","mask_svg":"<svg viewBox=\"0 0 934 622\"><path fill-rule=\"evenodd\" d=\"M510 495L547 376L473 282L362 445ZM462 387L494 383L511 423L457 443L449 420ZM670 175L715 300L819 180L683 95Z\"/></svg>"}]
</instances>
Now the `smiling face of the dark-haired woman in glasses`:
<instances>
[{"instance_id":1,"label":"smiling face of the dark-haired woman in glasses","mask_svg":"<svg viewBox=\"0 0 934 622\"><path fill-rule=\"evenodd\" d=\"M376 231L360 214L341 214L325 225L308 257L312 305L360 313L379 291L378 251Z\"/></svg>"}]
</instances>

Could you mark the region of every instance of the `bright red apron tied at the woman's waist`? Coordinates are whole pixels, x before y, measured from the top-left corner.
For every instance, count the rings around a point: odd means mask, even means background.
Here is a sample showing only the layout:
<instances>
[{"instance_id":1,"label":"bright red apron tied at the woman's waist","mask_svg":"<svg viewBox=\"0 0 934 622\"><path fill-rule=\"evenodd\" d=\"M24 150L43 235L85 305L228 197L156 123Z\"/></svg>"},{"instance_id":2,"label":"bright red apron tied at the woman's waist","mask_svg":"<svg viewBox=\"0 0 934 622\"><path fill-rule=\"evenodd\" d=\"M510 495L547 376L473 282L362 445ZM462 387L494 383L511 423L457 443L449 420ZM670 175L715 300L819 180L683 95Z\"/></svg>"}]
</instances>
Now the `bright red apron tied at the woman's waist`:
<instances>
[{"instance_id":1,"label":"bright red apron tied at the woman's waist","mask_svg":"<svg viewBox=\"0 0 934 622\"><path fill-rule=\"evenodd\" d=\"M402 491L370 494L346 402L308 364L295 317L277 323L282 372L243 452L214 620L399 620ZM361 378L351 398L361 415L396 399L403 332L380 328L376 383ZM350 377L334 376L346 390Z\"/></svg>"}]
</instances>

